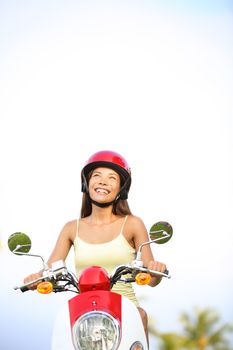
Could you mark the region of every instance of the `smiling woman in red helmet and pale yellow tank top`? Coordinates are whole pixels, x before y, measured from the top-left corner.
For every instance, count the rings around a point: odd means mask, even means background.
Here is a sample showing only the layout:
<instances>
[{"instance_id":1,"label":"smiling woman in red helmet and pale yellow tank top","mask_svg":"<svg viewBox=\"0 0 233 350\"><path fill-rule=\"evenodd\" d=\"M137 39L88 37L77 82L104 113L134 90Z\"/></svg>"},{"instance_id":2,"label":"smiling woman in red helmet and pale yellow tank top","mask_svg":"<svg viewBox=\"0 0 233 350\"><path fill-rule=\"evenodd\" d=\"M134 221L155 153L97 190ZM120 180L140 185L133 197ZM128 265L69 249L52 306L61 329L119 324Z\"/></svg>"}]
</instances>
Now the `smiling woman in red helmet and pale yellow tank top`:
<instances>
[{"instance_id":1,"label":"smiling woman in red helmet and pale yellow tank top","mask_svg":"<svg viewBox=\"0 0 233 350\"><path fill-rule=\"evenodd\" d=\"M56 260L65 260L74 246L77 275L91 265L104 267L109 273L117 265L135 258L140 244L148 241L143 221L132 215L127 198L131 185L131 172L126 160L118 153L100 151L92 155L81 172L82 208L79 220L65 224L48 266ZM142 250L144 266L164 272L166 265L154 260L150 245ZM24 282L38 277L32 274ZM150 285L156 286L161 277L152 277ZM139 307L131 284L117 282L113 291L127 296L140 312L148 337L147 314Z\"/></svg>"}]
</instances>

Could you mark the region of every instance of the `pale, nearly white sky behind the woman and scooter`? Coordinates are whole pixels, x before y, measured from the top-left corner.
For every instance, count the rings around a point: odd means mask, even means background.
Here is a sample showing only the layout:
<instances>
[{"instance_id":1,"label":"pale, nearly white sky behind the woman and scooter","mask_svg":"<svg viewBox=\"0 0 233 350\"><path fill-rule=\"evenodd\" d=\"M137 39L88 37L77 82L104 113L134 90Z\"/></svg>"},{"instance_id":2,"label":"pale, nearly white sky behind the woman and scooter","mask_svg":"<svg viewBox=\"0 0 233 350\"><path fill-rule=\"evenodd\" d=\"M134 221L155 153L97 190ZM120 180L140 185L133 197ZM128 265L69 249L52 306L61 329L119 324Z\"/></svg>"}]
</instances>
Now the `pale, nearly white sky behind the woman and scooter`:
<instances>
[{"instance_id":1,"label":"pale, nearly white sky behind the woman and scooter","mask_svg":"<svg viewBox=\"0 0 233 350\"><path fill-rule=\"evenodd\" d=\"M0 1L3 350L31 349L37 333L33 349L48 346L66 298L12 290L40 266L10 255L7 238L25 231L47 258L101 149L130 163L130 207L148 229L174 228L153 248L172 279L138 290L158 328L179 329L194 306L233 322L232 12L232 1Z\"/></svg>"}]
</instances>

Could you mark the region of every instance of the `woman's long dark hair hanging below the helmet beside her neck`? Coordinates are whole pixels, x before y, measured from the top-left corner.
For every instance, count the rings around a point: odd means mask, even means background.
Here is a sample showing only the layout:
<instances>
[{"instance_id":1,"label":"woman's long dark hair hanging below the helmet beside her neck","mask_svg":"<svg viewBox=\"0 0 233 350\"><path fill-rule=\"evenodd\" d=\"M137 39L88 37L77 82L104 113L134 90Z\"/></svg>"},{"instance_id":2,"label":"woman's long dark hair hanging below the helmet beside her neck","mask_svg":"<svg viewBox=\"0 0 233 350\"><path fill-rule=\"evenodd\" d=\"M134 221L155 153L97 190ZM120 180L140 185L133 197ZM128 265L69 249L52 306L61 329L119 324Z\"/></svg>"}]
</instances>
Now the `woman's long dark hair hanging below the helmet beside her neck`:
<instances>
[{"instance_id":1,"label":"woman's long dark hair hanging below the helmet beside her neck","mask_svg":"<svg viewBox=\"0 0 233 350\"><path fill-rule=\"evenodd\" d=\"M81 206L81 218L91 215L92 204L90 197L87 193L83 193L82 206ZM112 213L119 216L131 215L131 210L126 199L118 199L112 204Z\"/></svg>"}]
</instances>

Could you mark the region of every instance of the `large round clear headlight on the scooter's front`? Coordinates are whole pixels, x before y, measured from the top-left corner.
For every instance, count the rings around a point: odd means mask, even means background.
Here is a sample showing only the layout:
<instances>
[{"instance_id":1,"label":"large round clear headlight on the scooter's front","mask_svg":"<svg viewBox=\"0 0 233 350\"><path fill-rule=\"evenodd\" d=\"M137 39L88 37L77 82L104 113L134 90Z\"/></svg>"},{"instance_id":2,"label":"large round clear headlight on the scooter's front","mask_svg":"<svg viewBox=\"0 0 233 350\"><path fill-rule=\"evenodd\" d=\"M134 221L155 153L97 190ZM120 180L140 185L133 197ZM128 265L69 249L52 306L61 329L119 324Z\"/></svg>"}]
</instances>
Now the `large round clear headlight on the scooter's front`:
<instances>
[{"instance_id":1,"label":"large round clear headlight on the scooter's front","mask_svg":"<svg viewBox=\"0 0 233 350\"><path fill-rule=\"evenodd\" d=\"M115 350L120 342L120 324L105 312L88 312L75 322L72 338L77 350Z\"/></svg>"}]
</instances>

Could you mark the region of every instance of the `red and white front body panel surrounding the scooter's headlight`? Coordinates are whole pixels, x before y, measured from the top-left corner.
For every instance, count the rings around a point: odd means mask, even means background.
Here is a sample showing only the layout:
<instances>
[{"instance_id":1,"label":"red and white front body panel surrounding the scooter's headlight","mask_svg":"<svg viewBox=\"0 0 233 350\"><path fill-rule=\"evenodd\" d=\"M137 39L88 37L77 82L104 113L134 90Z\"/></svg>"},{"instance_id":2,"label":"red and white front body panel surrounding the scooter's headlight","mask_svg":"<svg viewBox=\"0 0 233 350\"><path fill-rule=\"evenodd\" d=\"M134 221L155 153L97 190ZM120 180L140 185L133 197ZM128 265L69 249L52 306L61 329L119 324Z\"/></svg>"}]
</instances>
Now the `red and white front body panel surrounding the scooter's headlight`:
<instances>
[{"instance_id":1,"label":"red and white front body panel surrounding the scooter's headlight","mask_svg":"<svg viewBox=\"0 0 233 350\"><path fill-rule=\"evenodd\" d=\"M104 291L101 291L101 293ZM84 293L84 294L88 294ZM100 299L96 299L97 296L100 296L99 293L91 292L91 294L87 295L87 300L84 302L84 299L79 298L81 295L72 298L69 301L69 304L66 304L59 310L57 314L57 318L54 323L53 336L52 336L52 345L51 350L74 350L74 345L72 342L72 332L71 332L71 320L70 320L70 311L73 318L79 314L81 316L81 310L83 310L83 314L88 311L93 311L93 297L95 297L95 301L97 300L96 308L98 310L102 310L104 312L109 312L112 316L119 318L121 320L121 342L118 347L118 350L130 350L132 344L135 342L140 342L143 345L144 350L148 350L146 336L142 324L142 320L136 306L126 297L122 297L119 294L113 292L106 292L110 294L108 297L102 293ZM83 294L83 295L84 295ZM104 295L107 299L112 299L112 302L109 304L104 301ZM116 298L115 298L115 295ZM118 300L118 302L114 303L114 300ZM82 305L83 302L83 305ZM69 308L70 305L71 309ZM105 307L103 307L105 305ZM108 305L109 309L106 309L106 305ZM102 307L102 308L101 308ZM85 312L84 312L85 311ZM74 316L76 315L76 316ZM118 315L118 316L116 316Z\"/></svg>"}]
</instances>

